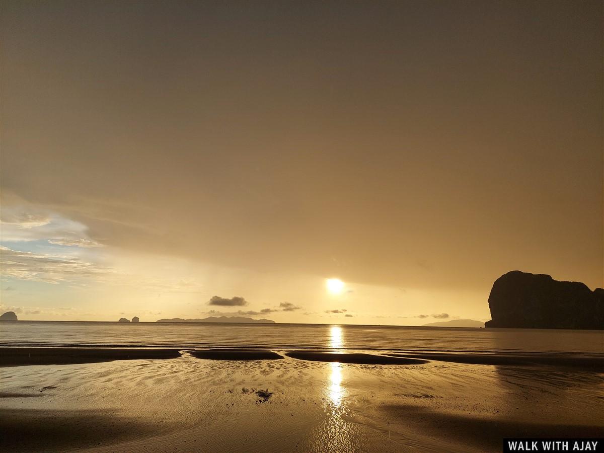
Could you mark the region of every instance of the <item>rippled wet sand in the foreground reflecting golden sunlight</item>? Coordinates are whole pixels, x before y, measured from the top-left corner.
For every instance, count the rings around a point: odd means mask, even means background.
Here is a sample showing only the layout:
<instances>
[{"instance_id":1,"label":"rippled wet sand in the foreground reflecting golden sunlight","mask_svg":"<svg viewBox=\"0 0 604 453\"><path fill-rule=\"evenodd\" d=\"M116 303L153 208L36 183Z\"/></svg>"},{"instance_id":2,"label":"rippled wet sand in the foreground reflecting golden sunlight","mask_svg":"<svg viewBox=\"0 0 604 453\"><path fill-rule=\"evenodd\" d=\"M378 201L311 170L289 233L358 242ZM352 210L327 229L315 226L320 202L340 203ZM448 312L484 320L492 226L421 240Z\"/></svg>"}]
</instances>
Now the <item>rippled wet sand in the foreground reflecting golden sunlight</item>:
<instances>
[{"instance_id":1,"label":"rippled wet sand in the foreground reflecting golden sunlight","mask_svg":"<svg viewBox=\"0 0 604 453\"><path fill-rule=\"evenodd\" d=\"M580 368L194 352L2 368L0 451L495 452L604 429L603 375Z\"/></svg>"}]
</instances>

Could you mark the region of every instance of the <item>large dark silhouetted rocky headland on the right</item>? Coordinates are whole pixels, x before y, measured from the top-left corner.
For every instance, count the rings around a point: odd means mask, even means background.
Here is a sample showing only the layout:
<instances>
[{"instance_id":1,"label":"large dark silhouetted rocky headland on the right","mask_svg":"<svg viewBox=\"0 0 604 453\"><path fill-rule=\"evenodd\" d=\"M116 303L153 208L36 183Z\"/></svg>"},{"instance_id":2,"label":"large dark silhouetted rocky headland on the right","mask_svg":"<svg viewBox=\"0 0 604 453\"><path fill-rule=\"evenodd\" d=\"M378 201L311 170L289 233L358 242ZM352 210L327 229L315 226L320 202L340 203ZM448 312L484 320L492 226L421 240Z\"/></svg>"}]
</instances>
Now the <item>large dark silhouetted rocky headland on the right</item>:
<instances>
[{"instance_id":1,"label":"large dark silhouetted rocky headland on the right","mask_svg":"<svg viewBox=\"0 0 604 453\"><path fill-rule=\"evenodd\" d=\"M485 327L604 329L604 289L511 271L495 280Z\"/></svg>"}]
</instances>

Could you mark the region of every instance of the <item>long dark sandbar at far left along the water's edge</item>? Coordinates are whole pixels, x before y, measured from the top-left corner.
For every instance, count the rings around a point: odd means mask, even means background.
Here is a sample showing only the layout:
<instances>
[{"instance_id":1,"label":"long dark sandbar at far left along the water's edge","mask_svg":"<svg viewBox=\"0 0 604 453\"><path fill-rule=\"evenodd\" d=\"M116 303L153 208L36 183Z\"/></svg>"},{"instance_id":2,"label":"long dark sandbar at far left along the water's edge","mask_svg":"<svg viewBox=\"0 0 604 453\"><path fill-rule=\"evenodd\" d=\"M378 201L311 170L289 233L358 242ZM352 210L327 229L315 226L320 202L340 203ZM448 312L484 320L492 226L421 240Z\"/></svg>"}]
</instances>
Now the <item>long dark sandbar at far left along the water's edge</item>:
<instances>
[{"instance_id":1,"label":"long dark sandbar at far left along the water's edge","mask_svg":"<svg viewBox=\"0 0 604 453\"><path fill-rule=\"evenodd\" d=\"M180 356L178 349L0 347L0 367L173 359Z\"/></svg>"}]
</instances>

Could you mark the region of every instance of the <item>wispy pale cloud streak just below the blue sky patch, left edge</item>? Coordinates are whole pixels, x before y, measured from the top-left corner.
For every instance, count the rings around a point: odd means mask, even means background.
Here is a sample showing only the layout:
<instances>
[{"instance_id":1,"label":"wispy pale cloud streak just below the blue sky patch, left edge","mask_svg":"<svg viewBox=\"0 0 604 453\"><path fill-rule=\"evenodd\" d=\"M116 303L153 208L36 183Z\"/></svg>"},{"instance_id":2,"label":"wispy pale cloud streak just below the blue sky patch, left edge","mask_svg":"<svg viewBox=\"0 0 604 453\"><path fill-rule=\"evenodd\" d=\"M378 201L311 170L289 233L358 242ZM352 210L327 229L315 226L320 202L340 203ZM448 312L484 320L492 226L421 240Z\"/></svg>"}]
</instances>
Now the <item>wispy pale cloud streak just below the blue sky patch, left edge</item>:
<instances>
[{"instance_id":1,"label":"wispy pale cloud streak just below the blue sky patch, left edge","mask_svg":"<svg viewBox=\"0 0 604 453\"><path fill-rule=\"evenodd\" d=\"M2 251L0 265L4 277L60 283L112 272L109 268L80 260L77 257L22 252L5 246L0 246L0 251Z\"/></svg>"}]
</instances>

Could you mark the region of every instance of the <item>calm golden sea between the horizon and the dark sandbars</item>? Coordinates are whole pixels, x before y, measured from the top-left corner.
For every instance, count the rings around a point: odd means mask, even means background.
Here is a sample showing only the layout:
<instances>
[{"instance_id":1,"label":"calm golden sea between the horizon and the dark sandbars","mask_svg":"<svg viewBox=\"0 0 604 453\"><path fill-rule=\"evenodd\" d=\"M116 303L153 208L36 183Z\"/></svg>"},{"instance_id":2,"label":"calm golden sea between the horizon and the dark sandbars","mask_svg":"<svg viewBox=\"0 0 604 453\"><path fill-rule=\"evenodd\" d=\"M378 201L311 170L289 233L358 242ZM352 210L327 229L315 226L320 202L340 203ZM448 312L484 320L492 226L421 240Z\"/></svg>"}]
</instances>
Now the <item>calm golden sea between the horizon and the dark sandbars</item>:
<instances>
[{"instance_id":1,"label":"calm golden sea between the horizon and the dark sandbars","mask_svg":"<svg viewBox=\"0 0 604 453\"><path fill-rule=\"evenodd\" d=\"M0 345L602 353L604 331L18 321L0 323Z\"/></svg>"}]
</instances>

